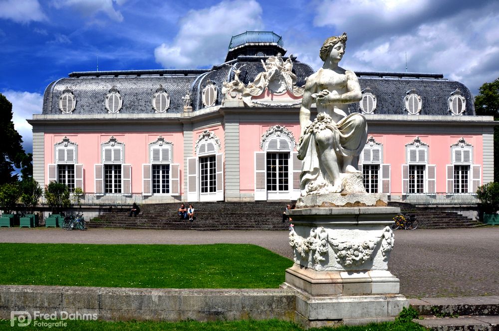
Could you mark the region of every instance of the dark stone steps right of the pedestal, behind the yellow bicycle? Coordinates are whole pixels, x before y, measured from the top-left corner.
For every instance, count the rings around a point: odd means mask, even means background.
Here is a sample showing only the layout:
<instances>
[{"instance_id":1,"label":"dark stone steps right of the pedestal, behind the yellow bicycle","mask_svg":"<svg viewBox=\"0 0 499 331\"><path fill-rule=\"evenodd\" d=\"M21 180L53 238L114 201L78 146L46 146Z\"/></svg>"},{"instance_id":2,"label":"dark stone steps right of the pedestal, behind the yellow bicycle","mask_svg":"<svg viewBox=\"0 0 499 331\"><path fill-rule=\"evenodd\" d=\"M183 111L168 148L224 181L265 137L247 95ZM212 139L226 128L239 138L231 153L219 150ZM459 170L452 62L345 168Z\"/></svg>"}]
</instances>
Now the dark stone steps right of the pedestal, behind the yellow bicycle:
<instances>
[{"instance_id":1,"label":"dark stone steps right of the pedestal, behind the yellow bicycle","mask_svg":"<svg viewBox=\"0 0 499 331\"><path fill-rule=\"evenodd\" d=\"M439 208L417 207L410 203L388 202L390 207L399 207L404 215L415 217L421 229L477 227L483 224L454 211Z\"/></svg>"}]
</instances>

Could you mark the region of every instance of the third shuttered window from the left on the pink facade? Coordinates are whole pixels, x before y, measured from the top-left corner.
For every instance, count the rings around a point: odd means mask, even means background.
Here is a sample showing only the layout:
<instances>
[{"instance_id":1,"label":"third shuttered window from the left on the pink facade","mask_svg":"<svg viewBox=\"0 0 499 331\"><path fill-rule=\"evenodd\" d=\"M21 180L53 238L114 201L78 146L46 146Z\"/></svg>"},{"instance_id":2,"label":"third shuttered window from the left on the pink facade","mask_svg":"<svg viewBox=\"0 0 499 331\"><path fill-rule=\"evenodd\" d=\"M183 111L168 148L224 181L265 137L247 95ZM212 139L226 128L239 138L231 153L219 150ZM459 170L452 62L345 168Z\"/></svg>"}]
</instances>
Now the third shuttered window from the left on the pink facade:
<instances>
[{"instance_id":1,"label":"third shuttered window from the left on the pink facade","mask_svg":"<svg viewBox=\"0 0 499 331\"><path fill-rule=\"evenodd\" d=\"M142 165L143 195L180 195L180 165L172 160L171 142L160 136L149 144L149 163Z\"/></svg>"}]
</instances>

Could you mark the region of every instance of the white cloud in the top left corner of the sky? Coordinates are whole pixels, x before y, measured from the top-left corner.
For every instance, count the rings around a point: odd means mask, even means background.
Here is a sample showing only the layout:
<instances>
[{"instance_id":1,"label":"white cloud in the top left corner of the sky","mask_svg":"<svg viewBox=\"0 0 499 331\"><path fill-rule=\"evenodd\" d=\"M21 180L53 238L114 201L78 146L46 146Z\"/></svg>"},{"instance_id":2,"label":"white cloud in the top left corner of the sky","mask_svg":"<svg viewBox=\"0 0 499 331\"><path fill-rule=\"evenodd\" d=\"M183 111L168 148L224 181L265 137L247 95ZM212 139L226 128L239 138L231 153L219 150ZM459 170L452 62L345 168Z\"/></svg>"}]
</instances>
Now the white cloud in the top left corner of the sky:
<instances>
[{"instance_id":1,"label":"white cloud in the top left corner of the sky","mask_svg":"<svg viewBox=\"0 0 499 331\"><path fill-rule=\"evenodd\" d=\"M0 18L17 23L41 22L47 19L38 0L0 0Z\"/></svg>"}]
</instances>

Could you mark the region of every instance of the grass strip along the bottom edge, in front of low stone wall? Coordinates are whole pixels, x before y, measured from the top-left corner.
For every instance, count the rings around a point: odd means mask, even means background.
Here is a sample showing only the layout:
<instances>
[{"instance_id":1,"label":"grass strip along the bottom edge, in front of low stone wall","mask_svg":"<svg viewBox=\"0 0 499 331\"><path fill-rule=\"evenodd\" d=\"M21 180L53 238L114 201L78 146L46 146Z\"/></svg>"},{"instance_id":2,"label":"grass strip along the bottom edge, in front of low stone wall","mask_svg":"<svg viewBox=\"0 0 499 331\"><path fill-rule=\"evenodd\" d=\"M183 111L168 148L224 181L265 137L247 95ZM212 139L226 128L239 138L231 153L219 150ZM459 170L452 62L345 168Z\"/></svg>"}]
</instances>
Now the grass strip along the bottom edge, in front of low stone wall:
<instances>
[{"instance_id":1,"label":"grass strip along the bottom edge, in front of low stone wall","mask_svg":"<svg viewBox=\"0 0 499 331\"><path fill-rule=\"evenodd\" d=\"M0 330L48 330L46 327L11 328L10 321L0 320ZM291 322L277 320L268 321L233 321L233 322L196 322L186 321L177 323L168 322L103 322L103 321L67 321L66 328L53 328L54 330L81 330L81 331L303 331L302 328ZM321 331L424 331L425 328L416 323L390 322L369 324L357 327L309 329Z\"/></svg>"}]
</instances>

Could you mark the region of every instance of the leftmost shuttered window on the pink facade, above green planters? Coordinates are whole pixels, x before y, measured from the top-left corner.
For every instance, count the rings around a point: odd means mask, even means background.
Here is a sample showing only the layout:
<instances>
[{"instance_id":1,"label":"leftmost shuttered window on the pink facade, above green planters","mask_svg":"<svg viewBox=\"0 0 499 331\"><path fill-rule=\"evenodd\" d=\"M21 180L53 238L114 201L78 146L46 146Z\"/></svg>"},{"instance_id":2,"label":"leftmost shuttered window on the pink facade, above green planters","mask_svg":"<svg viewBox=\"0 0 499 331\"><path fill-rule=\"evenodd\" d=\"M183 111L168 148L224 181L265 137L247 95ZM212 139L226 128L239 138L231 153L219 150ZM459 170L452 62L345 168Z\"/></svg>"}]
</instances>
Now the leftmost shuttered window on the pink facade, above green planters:
<instances>
[{"instance_id":1,"label":"leftmost shuttered window on the pink facade, above green planters","mask_svg":"<svg viewBox=\"0 0 499 331\"><path fill-rule=\"evenodd\" d=\"M73 192L83 190L83 165L77 163L78 145L64 137L54 145L55 164L48 165L48 182L64 183Z\"/></svg>"}]
</instances>

